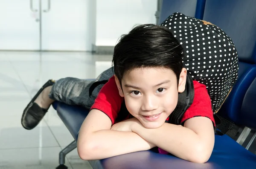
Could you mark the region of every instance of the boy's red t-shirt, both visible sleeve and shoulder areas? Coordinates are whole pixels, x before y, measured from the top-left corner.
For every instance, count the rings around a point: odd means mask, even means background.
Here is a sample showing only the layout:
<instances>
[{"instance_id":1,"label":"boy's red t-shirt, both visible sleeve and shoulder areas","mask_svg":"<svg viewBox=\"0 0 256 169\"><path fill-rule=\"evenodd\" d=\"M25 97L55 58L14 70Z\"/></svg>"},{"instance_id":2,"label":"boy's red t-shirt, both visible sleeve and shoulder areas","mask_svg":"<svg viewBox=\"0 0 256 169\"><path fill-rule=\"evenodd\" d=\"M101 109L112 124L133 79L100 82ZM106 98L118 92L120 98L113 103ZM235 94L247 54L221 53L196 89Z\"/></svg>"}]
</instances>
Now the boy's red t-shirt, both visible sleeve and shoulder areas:
<instances>
[{"instance_id":1,"label":"boy's red t-shirt, both visible sleeve and shoulder areas","mask_svg":"<svg viewBox=\"0 0 256 169\"><path fill-rule=\"evenodd\" d=\"M181 123L192 117L203 116L211 119L215 126L211 99L207 93L206 86L197 81L193 81L193 84L195 89L194 100L192 105L184 113ZM91 109L98 109L104 112L108 115L112 124L114 124L123 101L124 98L119 95L115 77L113 76L102 87Z\"/></svg>"}]
</instances>

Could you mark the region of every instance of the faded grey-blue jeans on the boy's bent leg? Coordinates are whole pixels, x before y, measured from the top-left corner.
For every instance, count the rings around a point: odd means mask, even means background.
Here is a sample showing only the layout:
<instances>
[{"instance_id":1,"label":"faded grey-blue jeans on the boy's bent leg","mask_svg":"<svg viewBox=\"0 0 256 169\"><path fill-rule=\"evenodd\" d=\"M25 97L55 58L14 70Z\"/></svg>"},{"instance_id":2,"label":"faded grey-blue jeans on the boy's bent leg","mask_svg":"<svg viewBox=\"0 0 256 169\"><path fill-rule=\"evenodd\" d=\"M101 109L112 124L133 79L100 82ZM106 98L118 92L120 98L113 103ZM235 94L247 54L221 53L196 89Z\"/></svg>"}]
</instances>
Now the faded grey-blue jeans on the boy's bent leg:
<instances>
[{"instance_id":1,"label":"faded grey-blue jeans on the boy's bent leg","mask_svg":"<svg viewBox=\"0 0 256 169\"><path fill-rule=\"evenodd\" d=\"M49 97L69 105L79 105L90 109L102 86L112 76L113 69L109 68L102 72L96 80L83 80L75 77L61 78L53 84Z\"/></svg>"}]
</instances>

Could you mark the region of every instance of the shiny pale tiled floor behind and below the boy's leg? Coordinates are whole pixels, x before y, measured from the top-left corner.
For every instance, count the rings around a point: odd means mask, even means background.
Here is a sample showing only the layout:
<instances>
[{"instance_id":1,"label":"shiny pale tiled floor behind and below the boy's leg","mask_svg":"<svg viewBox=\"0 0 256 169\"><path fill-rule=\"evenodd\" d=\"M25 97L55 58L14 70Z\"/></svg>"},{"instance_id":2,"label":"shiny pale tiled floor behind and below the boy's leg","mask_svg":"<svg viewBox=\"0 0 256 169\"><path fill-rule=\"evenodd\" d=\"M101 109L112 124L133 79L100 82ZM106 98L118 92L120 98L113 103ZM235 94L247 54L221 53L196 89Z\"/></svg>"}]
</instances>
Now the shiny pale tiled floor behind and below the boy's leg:
<instances>
[{"instance_id":1,"label":"shiny pale tiled floor behind and below the boy's leg","mask_svg":"<svg viewBox=\"0 0 256 169\"><path fill-rule=\"evenodd\" d=\"M41 123L23 129L23 109L49 79L95 78L111 67L111 56L85 52L0 52L0 169L54 169L58 153L73 137L51 107ZM69 169L91 169L76 149Z\"/></svg>"}]
</instances>

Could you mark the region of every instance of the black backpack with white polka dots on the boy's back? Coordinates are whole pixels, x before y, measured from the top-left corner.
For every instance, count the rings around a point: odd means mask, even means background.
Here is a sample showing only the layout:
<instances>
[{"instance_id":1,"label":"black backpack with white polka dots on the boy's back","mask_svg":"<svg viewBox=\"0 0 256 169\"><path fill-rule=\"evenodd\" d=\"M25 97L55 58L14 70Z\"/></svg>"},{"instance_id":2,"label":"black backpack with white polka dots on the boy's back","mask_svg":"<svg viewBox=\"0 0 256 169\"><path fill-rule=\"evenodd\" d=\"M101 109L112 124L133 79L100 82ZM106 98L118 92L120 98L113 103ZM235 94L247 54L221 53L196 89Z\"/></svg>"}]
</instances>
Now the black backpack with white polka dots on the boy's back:
<instances>
[{"instance_id":1,"label":"black backpack with white polka dots on the boy's back","mask_svg":"<svg viewBox=\"0 0 256 169\"><path fill-rule=\"evenodd\" d=\"M218 26L178 12L160 26L166 26L183 47L183 66L192 80L206 85L215 114L238 77L233 41Z\"/></svg>"}]
</instances>

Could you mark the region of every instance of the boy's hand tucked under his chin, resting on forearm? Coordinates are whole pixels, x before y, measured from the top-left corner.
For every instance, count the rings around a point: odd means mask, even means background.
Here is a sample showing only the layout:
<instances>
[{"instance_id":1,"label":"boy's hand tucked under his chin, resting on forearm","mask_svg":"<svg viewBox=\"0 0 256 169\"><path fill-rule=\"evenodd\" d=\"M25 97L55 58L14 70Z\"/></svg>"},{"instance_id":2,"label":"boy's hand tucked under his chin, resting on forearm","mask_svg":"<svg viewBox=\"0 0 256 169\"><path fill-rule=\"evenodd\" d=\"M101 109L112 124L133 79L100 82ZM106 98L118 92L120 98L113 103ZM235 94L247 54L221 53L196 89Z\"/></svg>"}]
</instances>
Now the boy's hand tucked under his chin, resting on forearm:
<instances>
[{"instance_id":1,"label":"boy's hand tucked under his chin, resting on forearm","mask_svg":"<svg viewBox=\"0 0 256 169\"><path fill-rule=\"evenodd\" d=\"M132 126L138 123L140 124L140 121L137 118L133 117L128 120L124 120L114 124L111 127L111 130L122 131L122 132L132 132L131 130Z\"/></svg>"}]
</instances>

